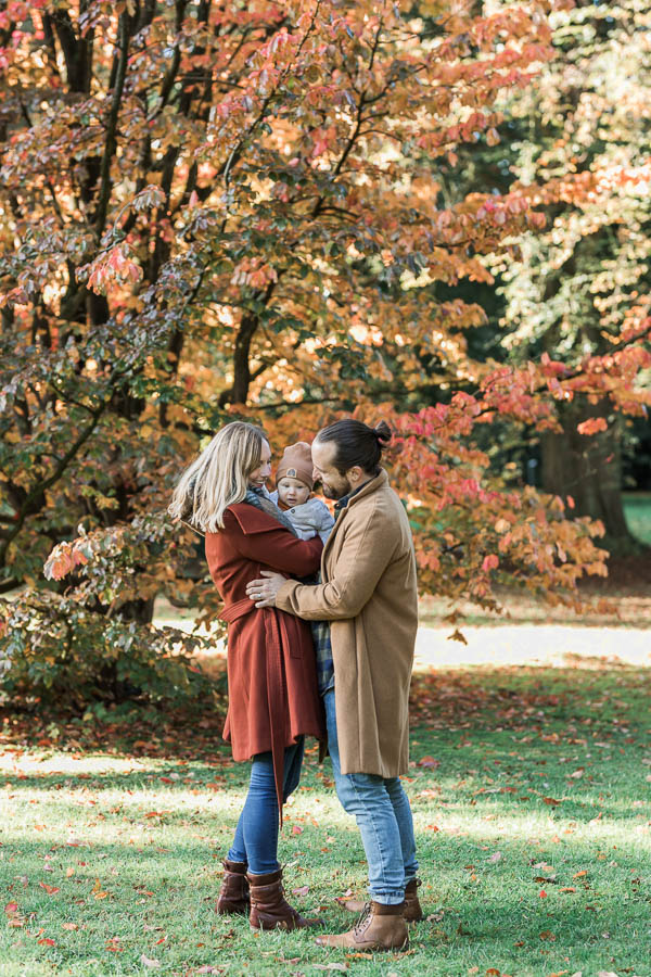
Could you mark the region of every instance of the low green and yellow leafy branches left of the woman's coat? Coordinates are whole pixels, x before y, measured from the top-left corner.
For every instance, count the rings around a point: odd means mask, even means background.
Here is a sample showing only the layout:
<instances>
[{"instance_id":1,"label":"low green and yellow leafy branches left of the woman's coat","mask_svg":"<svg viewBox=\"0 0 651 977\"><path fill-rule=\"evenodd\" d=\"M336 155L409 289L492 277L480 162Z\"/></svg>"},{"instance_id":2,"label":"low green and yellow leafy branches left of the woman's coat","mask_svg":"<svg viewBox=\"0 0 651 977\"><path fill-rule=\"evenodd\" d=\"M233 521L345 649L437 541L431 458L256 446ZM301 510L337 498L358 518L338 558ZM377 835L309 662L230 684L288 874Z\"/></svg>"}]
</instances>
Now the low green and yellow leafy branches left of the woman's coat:
<instances>
[{"instance_id":1,"label":"low green and yellow leafy branches left of the woman's coat","mask_svg":"<svg viewBox=\"0 0 651 977\"><path fill-rule=\"evenodd\" d=\"M192 591L191 607L202 589L207 592L209 616L216 617L219 600L212 582L202 588L176 580L192 543L162 513L61 543L46 573L54 580L69 573L65 593L29 587L0 606L0 687L12 696L77 708L93 700L209 698L210 682L192 659L207 639L149 623L166 578L175 582L177 597L183 588ZM219 631L213 633L217 637Z\"/></svg>"}]
</instances>

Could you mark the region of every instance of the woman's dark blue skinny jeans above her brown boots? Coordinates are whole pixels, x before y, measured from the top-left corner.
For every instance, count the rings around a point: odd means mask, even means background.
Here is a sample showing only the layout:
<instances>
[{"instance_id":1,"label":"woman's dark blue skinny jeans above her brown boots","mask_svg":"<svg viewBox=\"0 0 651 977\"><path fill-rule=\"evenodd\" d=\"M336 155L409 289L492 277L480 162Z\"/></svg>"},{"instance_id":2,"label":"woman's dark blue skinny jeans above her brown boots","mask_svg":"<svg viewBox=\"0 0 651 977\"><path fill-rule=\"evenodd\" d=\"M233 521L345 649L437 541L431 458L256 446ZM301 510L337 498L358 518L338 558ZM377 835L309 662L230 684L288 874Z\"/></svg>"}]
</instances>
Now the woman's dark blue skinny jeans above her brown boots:
<instances>
[{"instance_id":1,"label":"woman's dark blue skinny jeans above her brown boots","mask_svg":"<svg viewBox=\"0 0 651 977\"><path fill-rule=\"evenodd\" d=\"M303 763L303 736L284 752L283 801L298 786ZM227 859L244 862L253 875L278 872L278 798L271 752L257 753L251 765L248 794L238 821Z\"/></svg>"}]
</instances>

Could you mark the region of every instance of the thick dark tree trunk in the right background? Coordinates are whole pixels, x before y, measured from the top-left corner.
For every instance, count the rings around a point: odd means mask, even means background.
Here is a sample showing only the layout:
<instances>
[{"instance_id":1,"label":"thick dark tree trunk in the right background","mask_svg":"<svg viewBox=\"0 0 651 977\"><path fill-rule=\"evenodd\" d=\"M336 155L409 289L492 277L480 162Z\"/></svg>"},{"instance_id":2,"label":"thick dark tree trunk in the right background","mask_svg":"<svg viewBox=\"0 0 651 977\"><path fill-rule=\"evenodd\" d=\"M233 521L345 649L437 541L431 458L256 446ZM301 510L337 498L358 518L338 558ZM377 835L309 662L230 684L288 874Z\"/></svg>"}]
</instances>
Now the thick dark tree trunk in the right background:
<instances>
[{"instance_id":1,"label":"thick dark tree trunk in the right background","mask_svg":"<svg viewBox=\"0 0 651 977\"><path fill-rule=\"evenodd\" d=\"M563 433L541 436L542 487L566 498L571 495L577 516L600 519L605 528L605 545L612 553L630 548L622 505L622 453L618 420L607 431L585 435L578 424L590 418L608 418L610 405L589 404L577 398L561 410Z\"/></svg>"}]
</instances>

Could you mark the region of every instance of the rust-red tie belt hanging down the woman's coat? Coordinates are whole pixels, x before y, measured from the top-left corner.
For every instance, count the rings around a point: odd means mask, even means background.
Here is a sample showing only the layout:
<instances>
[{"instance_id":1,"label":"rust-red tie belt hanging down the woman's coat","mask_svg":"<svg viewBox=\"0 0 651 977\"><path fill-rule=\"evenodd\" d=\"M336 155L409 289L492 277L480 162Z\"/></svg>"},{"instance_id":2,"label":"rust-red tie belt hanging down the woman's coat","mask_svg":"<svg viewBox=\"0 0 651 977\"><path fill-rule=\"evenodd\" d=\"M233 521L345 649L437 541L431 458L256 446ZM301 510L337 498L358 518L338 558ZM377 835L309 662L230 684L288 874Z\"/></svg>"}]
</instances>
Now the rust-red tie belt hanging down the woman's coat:
<instances>
[{"instance_id":1,"label":"rust-red tie belt hanging down the woman's coat","mask_svg":"<svg viewBox=\"0 0 651 977\"><path fill-rule=\"evenodd\" d=\"M253 600L245 597L229 604L219 614L222 621L231 624L245 614L256 610ZM285 725L289 712L288 688L284 676L282 640L276 608L264 608L265 621L265 659L267 663L267 707L269 710L269 726L271 733L271 759L273 763L273 781L276 783L276 797L278 811L282 826L283 781L284 781L284 745Z\"/></svg>"}]
</instances>

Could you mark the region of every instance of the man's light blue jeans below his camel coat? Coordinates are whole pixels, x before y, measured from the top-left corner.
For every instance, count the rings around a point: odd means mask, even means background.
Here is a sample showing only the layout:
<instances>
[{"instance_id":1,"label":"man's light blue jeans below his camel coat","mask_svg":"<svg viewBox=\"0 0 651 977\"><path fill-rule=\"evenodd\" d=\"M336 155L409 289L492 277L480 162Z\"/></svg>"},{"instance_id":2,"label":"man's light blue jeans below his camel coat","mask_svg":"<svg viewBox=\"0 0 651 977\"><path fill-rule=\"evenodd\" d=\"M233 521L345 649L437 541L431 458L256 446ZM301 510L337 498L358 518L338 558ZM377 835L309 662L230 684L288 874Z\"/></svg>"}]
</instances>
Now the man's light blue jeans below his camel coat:
<instances>
[{"instance_id":1,"label":"man's light blue jeans below his camel coat","mask_svg":"<svg viewBox=\"0 0 651 977\"><path fill-rule=\"evenodd\" d=\"M405 898L405 885L418 872L407 795L399 777L342 774L333 688L326 693L323 702L336 796L344 811L357 820L369 863L369 892L375 902L396 905Z\"/></svg>"}]
</instances>

